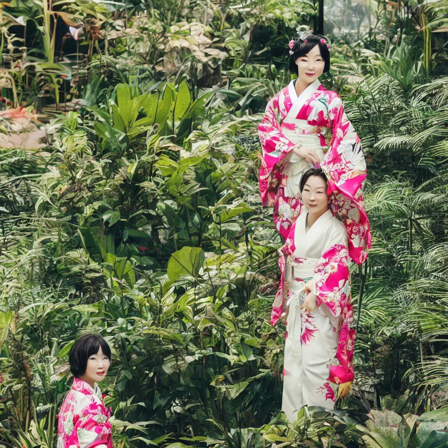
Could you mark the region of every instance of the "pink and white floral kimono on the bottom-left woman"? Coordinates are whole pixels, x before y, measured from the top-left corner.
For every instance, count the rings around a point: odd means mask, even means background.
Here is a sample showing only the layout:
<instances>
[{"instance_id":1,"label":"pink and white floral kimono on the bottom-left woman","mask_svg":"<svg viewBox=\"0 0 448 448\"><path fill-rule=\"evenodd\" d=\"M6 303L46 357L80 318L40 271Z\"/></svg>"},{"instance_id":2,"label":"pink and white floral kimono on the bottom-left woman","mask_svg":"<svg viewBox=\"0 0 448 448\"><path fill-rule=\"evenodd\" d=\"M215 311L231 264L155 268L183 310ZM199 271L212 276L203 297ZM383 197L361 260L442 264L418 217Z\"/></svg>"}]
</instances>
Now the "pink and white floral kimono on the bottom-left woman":
<instances>
[{"instance_id":1,"label":"pink and white floral kimono on the bottom-left woman","mask_svg":"<svg viewBox=\"0 0 448 448\"><path fill-rule=\"evenodd\" d=\"M73 379L58 415L57 448L112 448L110 409L94 385Z\"/></svg>"}]
</instances>

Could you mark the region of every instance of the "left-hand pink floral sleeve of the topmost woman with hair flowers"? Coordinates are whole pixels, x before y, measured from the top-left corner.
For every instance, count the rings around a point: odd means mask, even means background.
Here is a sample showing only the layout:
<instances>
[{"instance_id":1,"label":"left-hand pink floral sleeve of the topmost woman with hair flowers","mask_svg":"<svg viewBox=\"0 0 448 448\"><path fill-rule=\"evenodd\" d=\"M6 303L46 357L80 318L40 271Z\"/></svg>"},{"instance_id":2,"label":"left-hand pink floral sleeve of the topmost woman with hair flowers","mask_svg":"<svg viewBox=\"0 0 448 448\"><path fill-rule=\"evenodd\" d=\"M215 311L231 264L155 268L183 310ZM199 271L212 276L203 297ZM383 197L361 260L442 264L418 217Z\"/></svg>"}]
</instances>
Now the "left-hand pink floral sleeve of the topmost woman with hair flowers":
<instances>
[{"instance_id":1,"label":"left-hand pink floral sleeve of the topmost woman with hair flowers","mask_svg":"<svg viewBox=\"0 0 448 448\"><path fill-rule=\"evenodd\" d=\"M296 146L280 130L279 120L286 116L290 106L286 88L269 100L264 116L258 124L258 136L262 149L258 180L261 202L264 206L273 206L274 204L277 186L274 167Z\"/></svg>"}]
</instances>

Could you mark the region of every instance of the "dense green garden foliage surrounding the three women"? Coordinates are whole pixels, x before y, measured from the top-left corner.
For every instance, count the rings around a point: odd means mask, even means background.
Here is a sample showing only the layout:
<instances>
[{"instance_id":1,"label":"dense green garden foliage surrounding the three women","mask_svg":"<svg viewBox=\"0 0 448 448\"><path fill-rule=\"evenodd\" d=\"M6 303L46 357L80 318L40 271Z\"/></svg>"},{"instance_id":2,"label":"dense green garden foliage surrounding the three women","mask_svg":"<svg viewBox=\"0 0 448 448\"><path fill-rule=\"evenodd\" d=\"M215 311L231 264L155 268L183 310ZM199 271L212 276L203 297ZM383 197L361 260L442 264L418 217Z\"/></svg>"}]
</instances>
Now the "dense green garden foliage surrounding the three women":
<instances>
[{"instance_id":1,"label":"dense green garden foliage surrounding the three women","mask_svg":"<svg viewBox=\"0 0 448 448\"><path fill-rule=\"evenodd\" d=\"M45 148L0 150L0 446L55 445L84 329L113 347L120 448L448 445L448 8L369 8L328 36L322 79L368 163L357 377L334 412L288 424L256 125L315 5L0 4L1 107L51 118Z\"/></svg>"}]
</instances>

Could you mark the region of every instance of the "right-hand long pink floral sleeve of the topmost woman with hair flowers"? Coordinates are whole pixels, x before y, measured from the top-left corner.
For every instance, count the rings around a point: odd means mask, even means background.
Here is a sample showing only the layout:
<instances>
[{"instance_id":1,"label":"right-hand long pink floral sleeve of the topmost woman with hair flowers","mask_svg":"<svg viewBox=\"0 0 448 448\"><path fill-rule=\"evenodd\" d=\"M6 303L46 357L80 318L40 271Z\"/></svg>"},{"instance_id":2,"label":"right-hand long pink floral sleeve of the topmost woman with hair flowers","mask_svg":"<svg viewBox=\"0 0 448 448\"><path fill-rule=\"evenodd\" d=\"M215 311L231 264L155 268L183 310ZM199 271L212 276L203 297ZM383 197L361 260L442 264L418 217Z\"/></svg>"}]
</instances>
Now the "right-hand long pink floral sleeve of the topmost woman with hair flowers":
<instances>
[{"instance_id":1,"label":"right-hand long pink floral sleeve of the topmost woman with hair flowers","mask_svg":"<svg viewBox=\"0 0 448 448\"><path fill-rule=\"evenodd\" d=\"M342 100L329 92L328 118L332 138L321 167L333 193L333 212L344 220L348 233L348 254L362 263L370 247L370 226L365 213L362 185L366 177L364 151L344 111Z\"/></svg>"}]
</instances>

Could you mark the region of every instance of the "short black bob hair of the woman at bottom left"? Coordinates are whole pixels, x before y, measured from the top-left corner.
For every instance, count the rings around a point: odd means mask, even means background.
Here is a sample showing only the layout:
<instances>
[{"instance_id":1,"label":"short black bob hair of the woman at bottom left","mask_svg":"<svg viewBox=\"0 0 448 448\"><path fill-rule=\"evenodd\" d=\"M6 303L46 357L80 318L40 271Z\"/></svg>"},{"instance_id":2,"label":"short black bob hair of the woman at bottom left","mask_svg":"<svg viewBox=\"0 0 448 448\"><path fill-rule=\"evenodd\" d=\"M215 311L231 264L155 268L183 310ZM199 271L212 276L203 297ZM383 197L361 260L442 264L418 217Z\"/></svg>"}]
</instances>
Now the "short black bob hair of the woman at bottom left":
<instances>
[{"instance_id":1,"label":"short black bob hair of the woman at bottom left","mask_svg":"<svg viewBox=\"0 0 448 448\"><path fill-rule=\"evenodd\" d=\"M101 347L102 352L110 361L110 347L101 335L89 333L76 340L68 354L70 371L75 378L79 378L85 373L88 358L92 354L96 354L99 351L99 347Z\"/></svg>"}]
</instances>

